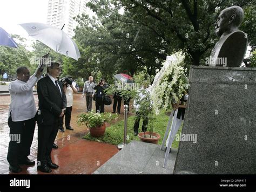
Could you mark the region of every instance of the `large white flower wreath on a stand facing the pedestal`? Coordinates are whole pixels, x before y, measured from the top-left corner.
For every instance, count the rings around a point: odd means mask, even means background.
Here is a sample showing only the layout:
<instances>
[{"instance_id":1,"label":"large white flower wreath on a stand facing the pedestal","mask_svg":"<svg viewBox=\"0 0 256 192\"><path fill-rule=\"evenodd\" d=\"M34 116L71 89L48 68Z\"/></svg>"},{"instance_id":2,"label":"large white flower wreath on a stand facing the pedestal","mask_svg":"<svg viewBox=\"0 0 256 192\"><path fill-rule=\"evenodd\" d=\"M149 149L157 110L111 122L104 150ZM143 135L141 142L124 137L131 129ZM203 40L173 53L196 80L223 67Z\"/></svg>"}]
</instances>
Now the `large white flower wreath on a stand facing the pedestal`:
<instances>
[{"instance_id":1,"label":"large white flower wreath on a stand facing the pedestal","mask_svg":"<svg viewBox=\"0 0 256 192\"><path fill-rule=\"evenodd\" d=\"M184 54L177 52L163 63L163 67L154 78L151 90L151 100L156 114L160 109L171 109L172 104L177 103L188 89L187 69L184 68Z\"/></svg>"}]
</instances>

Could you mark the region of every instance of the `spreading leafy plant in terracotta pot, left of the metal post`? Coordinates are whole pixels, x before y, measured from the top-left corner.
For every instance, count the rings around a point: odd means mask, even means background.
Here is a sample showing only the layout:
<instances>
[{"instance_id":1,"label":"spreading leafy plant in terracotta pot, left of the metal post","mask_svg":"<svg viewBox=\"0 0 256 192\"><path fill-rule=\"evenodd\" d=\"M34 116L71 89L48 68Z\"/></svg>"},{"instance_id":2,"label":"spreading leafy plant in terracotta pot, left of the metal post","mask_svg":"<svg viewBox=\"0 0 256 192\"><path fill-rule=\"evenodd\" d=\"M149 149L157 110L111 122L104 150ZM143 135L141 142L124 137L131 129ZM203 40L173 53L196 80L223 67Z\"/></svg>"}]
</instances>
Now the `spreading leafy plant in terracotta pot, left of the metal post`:
<instances>
[{"instance_id":1,"label":"spreading leafy plant in terracotta pot, left of the metal post","mask_svg":"<svg viewBox=\"0 0 256 192\"><path fill-rule=\"evenodd\" d=\"M106 122L111 122L116 119L116 114L111 113L96 113L94 111L90 113L82 113L78 115L77 124L86 125L90 129L91 136L98 138L103 136L106 129Z\"/></svg>"}]
</instances>

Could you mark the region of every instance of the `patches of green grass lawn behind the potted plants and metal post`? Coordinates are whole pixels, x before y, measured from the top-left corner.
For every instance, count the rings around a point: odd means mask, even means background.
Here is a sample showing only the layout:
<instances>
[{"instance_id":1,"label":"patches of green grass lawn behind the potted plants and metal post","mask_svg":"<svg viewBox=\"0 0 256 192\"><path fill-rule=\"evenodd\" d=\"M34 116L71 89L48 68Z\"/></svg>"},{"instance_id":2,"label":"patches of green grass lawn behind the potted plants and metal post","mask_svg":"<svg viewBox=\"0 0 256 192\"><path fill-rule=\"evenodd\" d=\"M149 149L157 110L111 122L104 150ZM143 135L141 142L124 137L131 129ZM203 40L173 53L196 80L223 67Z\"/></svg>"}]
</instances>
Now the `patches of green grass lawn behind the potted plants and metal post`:
<instances>
[{"instance_id":1,"label":"patches of green grass lawn behind the potted plants and metal post","mask_svg":"<svg viewBox=\"0 0 256 192\"><path fill-rule=\"evenodd\" d=\"M135 116L130 116L127 121L127 143L131 142L132 140L140 140L138 136L133 135L133 124L134 124L134 118ZM167 127L169 121L169 116L165 114L165 112L161 112L158 116L157 119L154 120L153 125L154 125L154 132L157 132L161 135L160 140L158 141L158 144L161 145L163 139L164 139L164 134L165 130ZM177 134L181 132L181 127L180 126L179 131ZM139 126L139 132L142 131L142 119L140 119L140 126ZM106 132L104 136L101 136L99 138L93 138L90 133L84 136L84 139L91 140L91 141L98 141L98 142L104 142L104 143L110 143L113 145L118 145L119 143L123 143L124 139L124 120L120 120L116 122L116 124L111 125L110 127L106 128ZM172 143L173 148L178 148L179 146L179 141L176 141L174 139Z\"/></svg>"}]
</instances>

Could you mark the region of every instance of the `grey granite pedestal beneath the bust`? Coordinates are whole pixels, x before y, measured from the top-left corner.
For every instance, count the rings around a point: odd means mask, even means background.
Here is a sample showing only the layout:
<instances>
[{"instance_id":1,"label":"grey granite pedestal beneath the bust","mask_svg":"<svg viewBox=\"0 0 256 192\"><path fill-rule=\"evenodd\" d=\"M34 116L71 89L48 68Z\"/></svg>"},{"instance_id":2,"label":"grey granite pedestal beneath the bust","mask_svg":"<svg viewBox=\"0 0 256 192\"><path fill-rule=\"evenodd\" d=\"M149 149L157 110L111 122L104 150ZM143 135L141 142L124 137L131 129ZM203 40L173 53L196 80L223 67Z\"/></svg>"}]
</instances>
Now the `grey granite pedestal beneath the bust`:
<instances>
[{"instance_id":1,"label":"grey granite pedestal beneath the bust","mask_svg":"<svg viewBox=\"0 0 256 192\"><path fill-rule=\"evenodd\" d=\"M174 174L256 174L256 68L191 66L190 85Z\"/></svg>"}]
</instances>

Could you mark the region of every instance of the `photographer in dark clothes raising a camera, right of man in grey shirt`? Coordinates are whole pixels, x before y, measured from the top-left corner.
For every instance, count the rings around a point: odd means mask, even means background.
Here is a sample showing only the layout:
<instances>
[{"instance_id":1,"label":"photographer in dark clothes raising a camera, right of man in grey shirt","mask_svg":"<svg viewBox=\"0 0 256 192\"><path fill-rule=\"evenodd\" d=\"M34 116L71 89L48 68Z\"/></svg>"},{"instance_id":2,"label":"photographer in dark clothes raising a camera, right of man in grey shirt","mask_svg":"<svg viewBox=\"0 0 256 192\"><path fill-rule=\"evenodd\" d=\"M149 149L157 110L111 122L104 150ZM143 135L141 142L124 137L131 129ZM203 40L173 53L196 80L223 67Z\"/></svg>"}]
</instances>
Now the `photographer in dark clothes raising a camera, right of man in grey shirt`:
<instances>
[{"instance_id":1,"label":"photographer in dark clothes raising a camera, right of man in grey shirt","mask_svg":"<svg viewBox=\"0 0 256 192\"><path fill-rule=\"evenodd\" d=\"M104 99L105 99L105 93L104 90L109 87L105 80L100 80L99 84L95 86L96 90L96 112L104 113Z\"/></svg>"}]
</instances>

